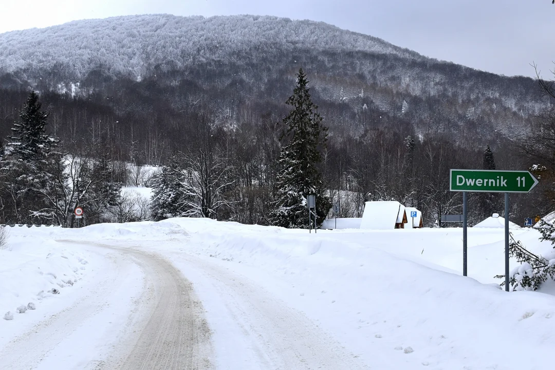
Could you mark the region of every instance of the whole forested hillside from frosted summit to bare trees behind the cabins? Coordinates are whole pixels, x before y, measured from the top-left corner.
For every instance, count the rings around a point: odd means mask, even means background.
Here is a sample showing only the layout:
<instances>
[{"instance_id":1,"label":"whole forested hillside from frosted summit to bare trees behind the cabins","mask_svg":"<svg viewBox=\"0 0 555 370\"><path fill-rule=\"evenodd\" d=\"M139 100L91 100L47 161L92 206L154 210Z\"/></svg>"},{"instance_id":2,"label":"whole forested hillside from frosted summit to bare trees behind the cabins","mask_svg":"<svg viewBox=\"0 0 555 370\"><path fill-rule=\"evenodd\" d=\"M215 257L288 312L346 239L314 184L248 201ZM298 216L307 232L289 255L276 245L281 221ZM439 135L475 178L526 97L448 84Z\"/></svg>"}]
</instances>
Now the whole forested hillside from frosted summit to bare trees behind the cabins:
<instances>
[{"instance_id":1,"label":"whole forested hillside from frosted summit to bare trees behind the cabins","mask_svg":"<svg viewBox=\"0 0 555 370\"><path fill-rule=\"evenodd\" d=\"M534 164L515 146L548 107L533 79L275 17L130 16L0 34L0 134L11 135L35 89L67 153L104 148L113 163L152 165L214 154L229 180L229 205L214 217L268 223L285 101L301 67L329 127L321 170L332 196L348 195L344 215L395 199L433 225L460 211L448 169L482 168L487 145L498 169ZM543 205L539 195L515 199L519 219ZM476 220L501 211L497 199L471 201Z\"/></svg>"}]
</instances>

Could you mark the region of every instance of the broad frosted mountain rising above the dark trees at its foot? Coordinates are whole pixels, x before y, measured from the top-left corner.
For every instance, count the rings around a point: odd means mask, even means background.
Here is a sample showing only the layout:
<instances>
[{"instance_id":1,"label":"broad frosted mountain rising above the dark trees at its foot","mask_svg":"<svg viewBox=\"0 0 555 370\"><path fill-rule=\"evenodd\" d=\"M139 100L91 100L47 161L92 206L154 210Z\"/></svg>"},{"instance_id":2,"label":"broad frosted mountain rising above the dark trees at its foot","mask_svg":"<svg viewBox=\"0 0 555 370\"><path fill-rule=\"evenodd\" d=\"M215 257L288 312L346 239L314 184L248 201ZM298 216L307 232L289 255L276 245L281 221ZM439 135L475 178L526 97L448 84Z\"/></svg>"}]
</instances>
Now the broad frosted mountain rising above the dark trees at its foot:
<instances>
[{"instance_id":1,"label":"broad frosted mountain rising above the dark trees at its foot","mask_svg":"<svg viewBox=\"0 0 555 370\"><path fill-rule=\"evenodd\" d=\"M427 58L322 22L158 14L0 34L0 89L99 94L119 115L179 114L196 102L230 126L243 104L257 116L281 115L301 67L327 124L352 136L395 128L491 144L527 133L545 107L531 78Z\"/></svg>"}]
</instances>

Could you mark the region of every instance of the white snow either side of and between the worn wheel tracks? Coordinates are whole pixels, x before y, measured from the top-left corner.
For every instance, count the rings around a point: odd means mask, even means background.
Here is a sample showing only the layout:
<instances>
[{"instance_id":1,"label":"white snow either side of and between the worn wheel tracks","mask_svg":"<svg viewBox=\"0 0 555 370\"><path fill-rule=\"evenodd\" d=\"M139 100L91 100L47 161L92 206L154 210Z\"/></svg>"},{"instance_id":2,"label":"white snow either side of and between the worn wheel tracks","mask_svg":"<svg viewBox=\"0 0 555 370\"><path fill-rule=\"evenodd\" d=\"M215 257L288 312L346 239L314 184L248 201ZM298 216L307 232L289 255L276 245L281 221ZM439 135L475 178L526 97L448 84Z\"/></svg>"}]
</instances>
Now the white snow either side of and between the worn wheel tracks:
<instances>
[{"instance_id":1,"label":"white snow either side of and between the worn wheel tracks","mask_svg":"<svg viewBox=\"0 0 555 370\"><path fill-rule=\"evenodd\" d=\"M234 222L171 219L79 230L8 230L11 250L0 250L0 357L4 346L22 340L29 328L54 314L63 317L65 308L83 300L108 276L113 268L110 254L94 245L105 244L160 254L193 283L212 331L213 362L218 369L260 367L249 366L253 359L243 350L250 346L248 336L231 323L248 319L226 313L225 291L207 272L210 266L226 271L230 280L248 282L246 302L252 291L299 312L367 368L553 366L555 296L551 293L555 289L553 284L543 292L499 288L501 281L493 276L504 273L503 229L469 228L469 277L461 276L460 228L309 234ZM538 241L537 230L512 232L534 252L553 251L551 244ZM516 261L511 261L515 266ZM132 266L122 272L129 279L137 274L140 271ZM111 316L91 319L94 325L83 332L82 339L93 343L87 351L75 349L73 359L64 360L62 367L55 361L62 354L49 355L45 362L50 361L51 367L37 368L85 368L79 364L105 358L110 344L106 338L115 341L113 327L125 320L131 297L140 289L131 280L117 286L126 294L107 298ZM59 294L53 294L53 288ZM34 303L36 310L17 313L19 306L28 303ZM13 320L2 320L8 311ZM73 347L68 343L67 348L71 352Z\"/></svg>"}]
</instances>

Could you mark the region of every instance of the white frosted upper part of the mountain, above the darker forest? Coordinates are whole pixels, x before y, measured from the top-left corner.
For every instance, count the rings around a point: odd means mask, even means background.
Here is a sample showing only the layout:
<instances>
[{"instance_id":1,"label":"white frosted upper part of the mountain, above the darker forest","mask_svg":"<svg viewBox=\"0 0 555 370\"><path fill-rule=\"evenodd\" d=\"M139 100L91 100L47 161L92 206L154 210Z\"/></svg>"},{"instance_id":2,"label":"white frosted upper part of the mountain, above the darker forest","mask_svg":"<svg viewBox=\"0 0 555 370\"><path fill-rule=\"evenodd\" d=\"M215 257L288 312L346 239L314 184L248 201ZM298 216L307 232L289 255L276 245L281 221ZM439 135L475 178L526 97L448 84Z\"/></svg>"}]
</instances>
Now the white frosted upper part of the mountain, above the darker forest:
<instances>
[{"instance_id":1,"label":"white frosted upper part of the mountain, above the darker forest","mask_svg":"<svg viewBox=\"0 0 555 370\"><path fill-rule=\"evenodd\" d=\"M279 46L278 46L279 45ZM44 29L0 34L0 66L50 69L70 64L78 78L107 64L119 73L164 63L181 68L191 59L219 59L241 49L316 48L364 51L423 59L408 49L322 22L231 16L177 17L168 14L74 21Z\"/></svg>"}]
</instances>

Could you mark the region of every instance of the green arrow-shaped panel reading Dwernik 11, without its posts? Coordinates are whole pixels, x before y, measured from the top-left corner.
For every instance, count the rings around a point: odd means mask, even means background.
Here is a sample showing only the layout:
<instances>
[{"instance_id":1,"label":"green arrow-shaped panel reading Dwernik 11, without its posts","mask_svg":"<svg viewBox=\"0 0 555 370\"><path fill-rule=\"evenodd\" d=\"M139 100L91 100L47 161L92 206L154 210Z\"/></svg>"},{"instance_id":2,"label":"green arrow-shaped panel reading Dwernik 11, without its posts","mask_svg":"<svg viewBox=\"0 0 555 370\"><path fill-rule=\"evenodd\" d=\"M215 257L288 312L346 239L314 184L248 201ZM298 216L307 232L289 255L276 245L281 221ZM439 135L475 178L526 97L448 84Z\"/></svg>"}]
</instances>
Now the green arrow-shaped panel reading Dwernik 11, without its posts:
<instances>
[{"instance_id":1,"label":"green arrow-shaped panel reading Dwernik 11, without its posts","mask_svg":"<svg viewBox=\"0 0 555 370\"><path fill-rule=\"evenodd\" d=\"M451 170L451 191L528 192L538 180L528 171Z\"/></svg>"}]
</instances>

